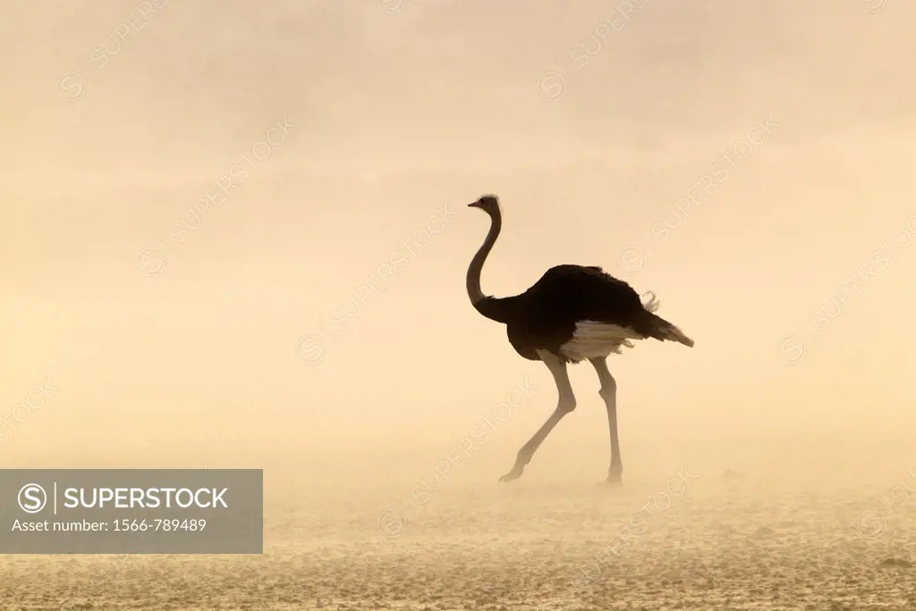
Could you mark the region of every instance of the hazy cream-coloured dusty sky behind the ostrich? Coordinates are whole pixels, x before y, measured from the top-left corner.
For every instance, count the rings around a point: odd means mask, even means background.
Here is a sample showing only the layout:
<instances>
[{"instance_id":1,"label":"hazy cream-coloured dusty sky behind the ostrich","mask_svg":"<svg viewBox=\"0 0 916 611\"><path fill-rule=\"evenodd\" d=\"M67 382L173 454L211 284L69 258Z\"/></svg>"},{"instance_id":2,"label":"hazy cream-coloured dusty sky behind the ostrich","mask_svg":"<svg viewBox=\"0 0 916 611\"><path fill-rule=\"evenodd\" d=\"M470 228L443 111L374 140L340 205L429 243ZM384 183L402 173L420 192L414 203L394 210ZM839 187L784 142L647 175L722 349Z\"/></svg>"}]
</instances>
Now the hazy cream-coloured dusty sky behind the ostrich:
<instances>
[{"instance_id":1,"label":"hazy cream-coloured dusty sky behind the ostrich","mask_svg":"<svg viewBox=\"0 0 916 611\"><path fill-rule=\"evenodd\" d=\"M518 447L556 395L464 293L489 192L486 293L602 265L695 339L612 357L625 453L906 429L916 5L886 4L5 2L0 416L60 390L0 461L448 447L528 376ZM541 452L606 452L573 387Z\"/></svg>"}]
</instances>

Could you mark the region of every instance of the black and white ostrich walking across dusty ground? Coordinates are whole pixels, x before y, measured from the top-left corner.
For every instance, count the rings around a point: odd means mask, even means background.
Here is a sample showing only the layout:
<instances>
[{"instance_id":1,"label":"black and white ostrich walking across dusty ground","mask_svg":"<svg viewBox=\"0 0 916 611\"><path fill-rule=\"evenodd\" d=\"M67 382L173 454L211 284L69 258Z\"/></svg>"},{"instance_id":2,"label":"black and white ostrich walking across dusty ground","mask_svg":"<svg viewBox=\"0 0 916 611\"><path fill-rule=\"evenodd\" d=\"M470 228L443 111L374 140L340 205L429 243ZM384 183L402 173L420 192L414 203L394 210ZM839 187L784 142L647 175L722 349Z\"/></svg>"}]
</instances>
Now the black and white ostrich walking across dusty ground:
<instances>
[{"instance_id":1,"label":"black and white ostrich walking across dusty ground","mask_svg":"<svg viewBox=\"0 0 916 611\"><path fill-rule=\"evenodd\" d=\"M502 229L502 211L495 195L485 195L471 208L484 210L490 216L490 230L484 244L474 255L467 270L467 295L483 316L506 325L509 343L525 359L540 360L551 370L557 384L559 401L538 432L518 450L515 466L500 482L521 477L525 466L562 417L575 409L575 395L566 363L588 359L598 374L598 393L607 408L611 434L611 466L607 482L619 484L623 473L617 443L617 384L605 359L621 347L633 348L631 339L655 338L676 341L689 348L693 340L678 327L653 314L660 302L649 293L644 305L638 293L622 280L605 273L600 267L557 265L521 295L493 297L480 290L480 273L486 256Z\"/></svg>"}]
</instances>

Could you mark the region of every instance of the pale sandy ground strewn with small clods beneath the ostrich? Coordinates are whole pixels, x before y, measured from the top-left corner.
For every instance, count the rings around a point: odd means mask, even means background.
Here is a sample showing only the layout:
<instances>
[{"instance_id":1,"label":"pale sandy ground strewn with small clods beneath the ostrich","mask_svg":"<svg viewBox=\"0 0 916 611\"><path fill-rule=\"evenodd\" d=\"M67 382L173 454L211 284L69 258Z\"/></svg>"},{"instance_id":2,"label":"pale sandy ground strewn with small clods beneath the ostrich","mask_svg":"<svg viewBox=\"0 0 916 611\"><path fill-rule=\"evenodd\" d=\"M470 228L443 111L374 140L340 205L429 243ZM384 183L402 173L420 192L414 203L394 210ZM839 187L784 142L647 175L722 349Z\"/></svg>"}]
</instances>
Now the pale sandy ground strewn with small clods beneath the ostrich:
<instances>
[{"instance_id":1,"label":"pale sandy ground strewn with small clods beneath the ostrich","mask_svg":"<svg viewBox=\"0 0 916 611\"><path fill-rule=\"evenodd\" d=\"M300 490L267 499L263 556L7 555L0 608L916 609L899 475L883 501L690 465L613 489Z\"/></svg>"}]
</instances>

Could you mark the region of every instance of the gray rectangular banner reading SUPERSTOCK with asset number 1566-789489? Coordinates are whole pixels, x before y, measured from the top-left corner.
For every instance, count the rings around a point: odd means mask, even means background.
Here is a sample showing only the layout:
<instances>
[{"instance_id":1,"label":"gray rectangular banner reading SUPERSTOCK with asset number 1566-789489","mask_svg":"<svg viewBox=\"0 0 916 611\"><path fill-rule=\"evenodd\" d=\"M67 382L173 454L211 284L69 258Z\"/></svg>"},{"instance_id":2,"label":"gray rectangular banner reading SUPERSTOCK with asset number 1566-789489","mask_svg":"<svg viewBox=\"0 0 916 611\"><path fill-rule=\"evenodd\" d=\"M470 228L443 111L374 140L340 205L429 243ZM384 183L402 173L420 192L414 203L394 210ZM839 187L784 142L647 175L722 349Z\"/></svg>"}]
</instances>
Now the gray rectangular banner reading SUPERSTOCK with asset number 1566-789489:
<instances>
[{"instance_id":1,"label":"gray rectangular banner reading SUPERSTOCK with asset number 1566-789489","mask_svg":"<svg viewBox=\"0 0 916 611\"><path fill-rule=\"evenodd\" d=\"M0 469L0 553L263 553L262 469Z\"/></svg>"}]
</instances>

